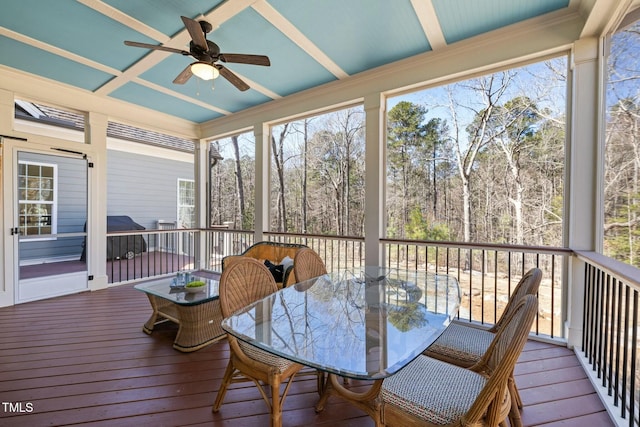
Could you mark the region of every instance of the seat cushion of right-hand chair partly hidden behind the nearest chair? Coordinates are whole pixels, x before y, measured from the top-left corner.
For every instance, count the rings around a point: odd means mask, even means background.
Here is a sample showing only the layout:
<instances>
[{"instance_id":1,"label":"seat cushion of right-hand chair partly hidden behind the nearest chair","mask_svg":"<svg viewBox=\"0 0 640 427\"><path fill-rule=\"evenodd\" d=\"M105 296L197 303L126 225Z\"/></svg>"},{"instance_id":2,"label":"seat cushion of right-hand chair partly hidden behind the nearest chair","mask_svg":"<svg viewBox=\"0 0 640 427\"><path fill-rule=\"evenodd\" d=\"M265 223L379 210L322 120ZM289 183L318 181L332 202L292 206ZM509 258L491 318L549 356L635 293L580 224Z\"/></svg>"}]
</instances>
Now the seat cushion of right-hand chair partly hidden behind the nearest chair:
<instances>
[{"instance_id":1,"label":"seat cushion of right-hand chair partly hidden behind the nearest chair","mask_svg":"<svg viewBox=\"0 0 640 427\"><path fill-rule=\"evenodd\" d=\"M429 346L425 354L440 354L447 359L459 360L464 365L471 365L482 358L491 341L495 337L491 332L452 323L442 335ZM437 357L433 355L433 357Z\"/></svg>"}]
</instances>

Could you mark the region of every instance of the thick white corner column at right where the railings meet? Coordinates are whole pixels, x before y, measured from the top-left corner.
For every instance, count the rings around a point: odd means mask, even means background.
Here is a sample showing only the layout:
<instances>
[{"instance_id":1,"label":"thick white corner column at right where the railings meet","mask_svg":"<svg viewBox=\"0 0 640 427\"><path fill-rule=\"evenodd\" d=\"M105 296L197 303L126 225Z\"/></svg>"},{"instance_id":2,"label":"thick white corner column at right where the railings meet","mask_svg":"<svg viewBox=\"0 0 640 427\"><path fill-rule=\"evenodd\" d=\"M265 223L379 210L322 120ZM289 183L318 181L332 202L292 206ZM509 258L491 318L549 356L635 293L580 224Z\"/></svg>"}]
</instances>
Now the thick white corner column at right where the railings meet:
<instances>
[{"instance_id":1,"label":"thick white corner column at right where the railings meet","mask_svg":"<svg viewBox=\"0 0 640 427\"><path fill-rule=\"evenodd\" d=\"M602 76L599 40L578 40L573 50L571 79L571 123L567 146L567 200L565 220L567 244L572 249L594 251L601 248L602 207L602 123L600 90ZM567 322L565 333L570 347L580 347L582 339L584 266L572 258L568 271Z\"/></svg>"}]
</instances>

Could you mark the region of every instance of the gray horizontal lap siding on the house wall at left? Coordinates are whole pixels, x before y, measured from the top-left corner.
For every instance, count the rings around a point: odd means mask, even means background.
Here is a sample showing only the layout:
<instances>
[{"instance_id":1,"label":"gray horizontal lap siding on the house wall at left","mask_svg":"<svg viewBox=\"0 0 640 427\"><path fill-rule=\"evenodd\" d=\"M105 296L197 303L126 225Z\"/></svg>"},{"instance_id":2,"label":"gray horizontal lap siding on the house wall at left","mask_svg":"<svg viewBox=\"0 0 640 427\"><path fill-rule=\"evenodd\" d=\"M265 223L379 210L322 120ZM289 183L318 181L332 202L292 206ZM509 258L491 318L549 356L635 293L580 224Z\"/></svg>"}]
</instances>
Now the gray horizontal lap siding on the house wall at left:
<instances>
[{"instance_id":1,"label":"gray horizontal lap siding on the house wall at left","mask_svg":"<svg viewBox=\"0 0 640 427\"><path fill-rule=\"evenodd\" d=\"M82 232L87 220L87 168L84 160L33 153L20 159L58 165L58 233ZM177 220L178 179L193 179L193 163L109 150L107 215L127 215L147 229L159 219ZM84 238L22 242L20 260L78 257Z\"/></svg>"}]
</instances>

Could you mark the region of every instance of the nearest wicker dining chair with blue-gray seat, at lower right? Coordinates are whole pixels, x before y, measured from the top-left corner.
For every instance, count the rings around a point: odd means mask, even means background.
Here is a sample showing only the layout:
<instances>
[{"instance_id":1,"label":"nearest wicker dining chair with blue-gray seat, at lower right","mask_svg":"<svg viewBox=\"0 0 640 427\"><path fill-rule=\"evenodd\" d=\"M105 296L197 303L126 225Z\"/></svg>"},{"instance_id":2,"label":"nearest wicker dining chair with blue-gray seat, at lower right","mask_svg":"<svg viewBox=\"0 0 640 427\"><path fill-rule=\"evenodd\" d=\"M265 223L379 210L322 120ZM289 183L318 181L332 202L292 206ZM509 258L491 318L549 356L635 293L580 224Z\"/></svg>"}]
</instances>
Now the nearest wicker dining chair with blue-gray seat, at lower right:
<instances>
[{"instance_id":1,"label":"nearest wicker dining chair with blue-gray seat, at lower right","mask_svg":"<svg viewBox=\"0 0 640 427\"><path fill-rule=\"evenodd\" d=\"M538 299L527 295L505 319L480 361L462 368L424 355L382 383L386 426L506 425L509 376L527 342Z\"/></svg>"}]
</instances>

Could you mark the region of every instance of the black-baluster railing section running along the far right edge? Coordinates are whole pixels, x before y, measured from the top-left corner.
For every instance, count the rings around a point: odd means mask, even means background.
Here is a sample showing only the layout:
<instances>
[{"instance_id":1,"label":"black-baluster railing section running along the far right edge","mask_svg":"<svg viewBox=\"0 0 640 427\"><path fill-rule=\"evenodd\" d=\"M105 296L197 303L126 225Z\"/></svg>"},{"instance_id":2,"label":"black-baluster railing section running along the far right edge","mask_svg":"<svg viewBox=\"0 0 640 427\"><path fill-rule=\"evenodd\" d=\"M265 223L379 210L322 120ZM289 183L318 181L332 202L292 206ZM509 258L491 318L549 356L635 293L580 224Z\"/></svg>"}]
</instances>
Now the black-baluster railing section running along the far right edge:
<instances>
[{"instance_id":1,"label":"black-baluster railing section running along the far right edge","mask_svg":"<svg viewBox=\"0 0 640 427\"><path fill-rule=\"evenodd\" d=\"M581 352L618 415L638 426L640 270L593 252L576 256L584 262Z\"/></svg>"}]
</instances>

